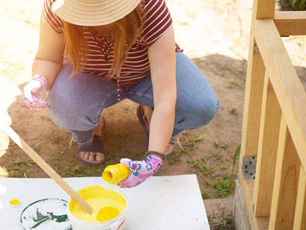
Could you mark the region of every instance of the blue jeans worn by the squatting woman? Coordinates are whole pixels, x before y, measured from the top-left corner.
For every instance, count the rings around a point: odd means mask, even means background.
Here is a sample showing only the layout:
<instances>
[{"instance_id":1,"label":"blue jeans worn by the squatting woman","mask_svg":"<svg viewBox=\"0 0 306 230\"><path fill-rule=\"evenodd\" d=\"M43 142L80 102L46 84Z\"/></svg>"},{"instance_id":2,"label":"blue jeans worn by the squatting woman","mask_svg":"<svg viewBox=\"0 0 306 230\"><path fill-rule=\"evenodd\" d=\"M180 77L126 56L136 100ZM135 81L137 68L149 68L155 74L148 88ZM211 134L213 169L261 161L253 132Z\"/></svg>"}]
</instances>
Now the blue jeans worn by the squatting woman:
<instances>
[{"instance_id":1,"label":"blue jeans worn by the squatting woman","mask_svg":"<svg viewBox=\"0 0 306 230\"><path fill-rule=\"evenodd\" d=\"M117 84L85 72L69 79L71 72L71 64L64 62L47 98L47 110L55 124L69 130L79 143L86 143L92 141L92 129L102 110L118 103ZM176 88L173 136L208 124L218 112L219 101L211 85L182 52L176 53ZM151 74L135 85L121 87L120 98L153 107Z\"/></svg>"}]
</instances>

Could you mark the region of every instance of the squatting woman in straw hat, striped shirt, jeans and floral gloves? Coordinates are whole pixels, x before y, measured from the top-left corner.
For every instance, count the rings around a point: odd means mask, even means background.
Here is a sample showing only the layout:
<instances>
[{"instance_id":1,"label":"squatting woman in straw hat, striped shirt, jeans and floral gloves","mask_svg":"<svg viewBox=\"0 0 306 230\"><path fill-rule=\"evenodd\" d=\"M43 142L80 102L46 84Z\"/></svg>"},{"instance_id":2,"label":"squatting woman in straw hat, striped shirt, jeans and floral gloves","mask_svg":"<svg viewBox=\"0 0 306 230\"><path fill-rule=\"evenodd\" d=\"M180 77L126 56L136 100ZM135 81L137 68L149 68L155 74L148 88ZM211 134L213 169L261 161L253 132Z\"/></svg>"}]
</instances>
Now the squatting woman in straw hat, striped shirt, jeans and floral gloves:
<instances>
[{"instance_id":1,"label":"squatting woman in straw hat, striped shirt, jeans and floral gloves","mask_svg":"<svg viewBox=\"0 0 306 230\"><path fill-rule=\"evenodd\" d=\"M103 108L125 98L140 104L147 159L121 160L131 169L122 187L152 176L173 151L171 137L209 123L219 108L212 87L175 44L164 0L45 0L32 75L25 104L47 107L86 164L106 156Z\"/></svg>"}]
</instances>

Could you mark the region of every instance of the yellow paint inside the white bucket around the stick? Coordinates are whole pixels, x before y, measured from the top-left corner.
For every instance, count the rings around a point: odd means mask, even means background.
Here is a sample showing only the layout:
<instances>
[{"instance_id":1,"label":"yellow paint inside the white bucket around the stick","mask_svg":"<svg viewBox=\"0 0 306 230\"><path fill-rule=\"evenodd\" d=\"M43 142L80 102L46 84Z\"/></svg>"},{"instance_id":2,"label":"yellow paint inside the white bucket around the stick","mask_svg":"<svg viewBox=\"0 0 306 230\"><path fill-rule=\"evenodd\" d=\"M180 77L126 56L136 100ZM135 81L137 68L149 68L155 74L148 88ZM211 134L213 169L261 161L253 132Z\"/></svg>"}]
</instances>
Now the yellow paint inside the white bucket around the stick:
<instances>
[{"instance_id":1,"label":"yellow paint inside the white bucket around the stick","mask_svg":"<svg viewBox=\"0 0 306 230\"><path fill-rule=\"evenodd\" d=\"M119 193L99 185L82 188L78 193L93 208L93 213L88 215L73 199L68 204L69 210L77 219L89 223L112 220L119 216L127 205Z\"/></svg>"}]
</instances>

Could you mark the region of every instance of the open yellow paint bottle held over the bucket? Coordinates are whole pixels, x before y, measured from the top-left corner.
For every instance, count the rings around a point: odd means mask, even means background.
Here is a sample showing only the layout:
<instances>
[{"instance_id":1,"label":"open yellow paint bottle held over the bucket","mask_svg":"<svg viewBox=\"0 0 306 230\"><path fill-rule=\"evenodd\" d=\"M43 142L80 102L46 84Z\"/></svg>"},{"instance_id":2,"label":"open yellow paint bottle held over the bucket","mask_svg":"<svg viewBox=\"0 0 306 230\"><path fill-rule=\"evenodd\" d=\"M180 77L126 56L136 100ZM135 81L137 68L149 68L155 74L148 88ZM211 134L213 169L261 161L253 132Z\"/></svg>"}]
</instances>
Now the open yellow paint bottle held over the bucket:
<instances>
[{"instance_id":1,"label":"open yellow paint bottle held over the bucket","mask_svg":"<svg viewBox=\"0 0 306 230\"><path fill-rule=\"evenodd\" d=\"M127 179L131 171L124 164L112 164L105 168L102 173L102 178L109 184L117 184Z\"/></svg>"}]
</instances>

